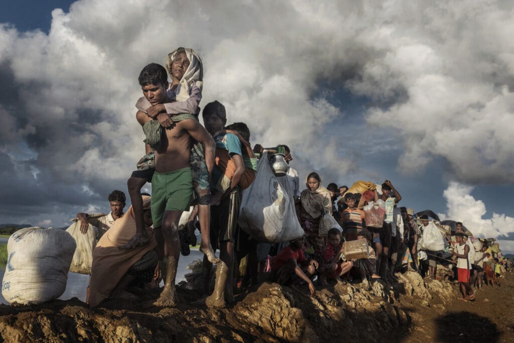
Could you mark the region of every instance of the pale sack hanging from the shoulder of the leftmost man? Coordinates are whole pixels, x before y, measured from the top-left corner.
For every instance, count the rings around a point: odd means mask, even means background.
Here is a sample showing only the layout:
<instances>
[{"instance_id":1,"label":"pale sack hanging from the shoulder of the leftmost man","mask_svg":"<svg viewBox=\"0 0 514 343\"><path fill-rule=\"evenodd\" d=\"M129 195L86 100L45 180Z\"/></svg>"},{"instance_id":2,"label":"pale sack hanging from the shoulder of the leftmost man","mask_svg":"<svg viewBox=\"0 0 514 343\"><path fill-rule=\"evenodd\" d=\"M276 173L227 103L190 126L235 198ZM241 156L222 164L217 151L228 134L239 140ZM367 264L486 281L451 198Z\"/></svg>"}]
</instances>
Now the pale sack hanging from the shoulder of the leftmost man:
<instances>
[{"instance_id":1,"label":"pale sack hanging from the shoulder of the leftmost man","mask_svg":"<svg viewBox=\"0 0 514 343\"><path fill-rule=\"evenodd\" d=\"M91 274L91 263L93 263L93 250L96 246L96 234L93 225L89 224L87 233L80 232L81 221L71 224L67 229L71 237L75 239L77 248L71 260L69 271L80 274Z\"/></svg>"}]
</instances>

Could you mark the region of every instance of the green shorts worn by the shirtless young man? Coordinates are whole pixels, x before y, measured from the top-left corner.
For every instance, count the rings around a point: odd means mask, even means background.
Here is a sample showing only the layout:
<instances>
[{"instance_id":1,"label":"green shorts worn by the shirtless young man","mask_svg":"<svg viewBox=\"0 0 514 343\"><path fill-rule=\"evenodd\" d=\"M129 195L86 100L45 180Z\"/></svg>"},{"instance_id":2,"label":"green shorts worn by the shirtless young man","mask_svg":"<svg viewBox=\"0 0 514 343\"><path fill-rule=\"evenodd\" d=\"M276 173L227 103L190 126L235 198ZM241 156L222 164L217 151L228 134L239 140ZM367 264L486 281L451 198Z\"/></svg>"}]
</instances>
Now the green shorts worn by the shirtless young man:
<instances>
[{"instance_id":1,"label":"green shorts worn by the shirtless young man","mask_svg":"<svg viewBox=\"0 0 514 343\"><path fill-rule=\"evenodd\" d=\"M162 226L164 211L189 210L193 195L191 168L168 173L155 172L152 177L152 221L154 227Z\"/></svg>"}]
</instances>

